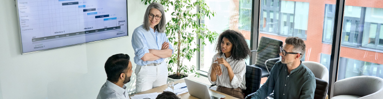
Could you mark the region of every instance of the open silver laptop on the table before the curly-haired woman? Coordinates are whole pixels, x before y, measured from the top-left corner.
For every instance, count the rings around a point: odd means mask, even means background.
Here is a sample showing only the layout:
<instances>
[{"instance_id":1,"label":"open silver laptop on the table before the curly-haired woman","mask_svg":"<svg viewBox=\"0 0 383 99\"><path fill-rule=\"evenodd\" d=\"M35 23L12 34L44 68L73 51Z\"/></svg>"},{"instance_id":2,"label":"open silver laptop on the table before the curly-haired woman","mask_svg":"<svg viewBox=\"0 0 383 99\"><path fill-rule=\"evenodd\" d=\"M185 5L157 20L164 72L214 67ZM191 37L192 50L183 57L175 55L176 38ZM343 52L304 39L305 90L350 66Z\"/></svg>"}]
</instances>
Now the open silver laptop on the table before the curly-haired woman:
<instances>
[{"instance_id":1,"label":"open silver laptop on the table before the curly-haired woman","mask_svg":"<svg viewBox=\"0 0 383 99\"><path fill-rule=\"evenodd\" d=\"M226 96L214 93L207 89L207 86L185 79L186 86L188 87L189 94L199 99L220 99Z\"/></svg>"}]
</instances>

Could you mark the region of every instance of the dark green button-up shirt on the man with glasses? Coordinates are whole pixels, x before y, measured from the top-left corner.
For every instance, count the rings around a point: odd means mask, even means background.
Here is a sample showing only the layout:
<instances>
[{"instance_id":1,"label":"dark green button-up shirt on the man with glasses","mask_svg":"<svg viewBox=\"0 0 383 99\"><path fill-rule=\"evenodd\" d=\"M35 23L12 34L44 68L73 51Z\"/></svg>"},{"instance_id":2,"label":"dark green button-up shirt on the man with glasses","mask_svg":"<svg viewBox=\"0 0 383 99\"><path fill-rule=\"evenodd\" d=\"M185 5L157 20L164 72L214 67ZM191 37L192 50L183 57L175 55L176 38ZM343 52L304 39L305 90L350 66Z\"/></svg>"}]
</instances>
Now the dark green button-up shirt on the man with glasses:
<instances>
[{"instance_id":1,"label":"dark green button-up shirt on the man with glasses","mask_svg":"<svg viewBox=\"0 0 383 99\"><path fill-rule=\"evenodd\" d=\"M314 74L302 62L288 74L287 65L278 61L251 99L265 99L273 91L274 99L314 99L315 87Z\"/></svg>"}]
</instances>

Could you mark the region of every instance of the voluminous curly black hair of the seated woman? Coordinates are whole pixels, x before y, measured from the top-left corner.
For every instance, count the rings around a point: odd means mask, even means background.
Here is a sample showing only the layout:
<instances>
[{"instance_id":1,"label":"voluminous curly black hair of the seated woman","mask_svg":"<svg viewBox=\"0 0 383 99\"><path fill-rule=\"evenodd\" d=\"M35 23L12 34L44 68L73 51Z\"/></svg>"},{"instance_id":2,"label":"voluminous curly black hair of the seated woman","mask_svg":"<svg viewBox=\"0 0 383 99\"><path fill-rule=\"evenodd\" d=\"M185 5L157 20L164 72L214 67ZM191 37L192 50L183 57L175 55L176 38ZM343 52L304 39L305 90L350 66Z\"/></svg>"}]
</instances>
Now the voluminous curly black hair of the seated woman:
<instances>
[{"instance_id":1,"label":"voluminous curly black hair of the seated woman","mask_svg":"<svg viewBox=\"0 0 383 99\"><path fill-rule=\"evenodd\" d=\"M233 44L233 47L231 48L231 56L234 60L241 60L250 56L250 49L245 41L245 37L234 30L226 30L219 35L217 47L215 48L218 53L223 54L221 50L221 42L223 37L229 39L229 41Z\"/></svg>"}]
</instances>

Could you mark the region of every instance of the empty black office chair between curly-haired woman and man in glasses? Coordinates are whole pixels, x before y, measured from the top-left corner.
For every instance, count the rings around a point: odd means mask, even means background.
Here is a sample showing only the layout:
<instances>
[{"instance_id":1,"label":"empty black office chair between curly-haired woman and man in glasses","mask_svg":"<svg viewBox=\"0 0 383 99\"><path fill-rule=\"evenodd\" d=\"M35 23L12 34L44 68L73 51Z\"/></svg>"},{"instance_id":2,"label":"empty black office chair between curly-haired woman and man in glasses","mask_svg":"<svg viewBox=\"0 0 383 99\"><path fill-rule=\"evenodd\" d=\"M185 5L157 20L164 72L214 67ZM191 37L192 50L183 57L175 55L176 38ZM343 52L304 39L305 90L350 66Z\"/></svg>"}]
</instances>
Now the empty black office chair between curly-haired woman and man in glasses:
<instances>
[{"instance_id":1,"label":"empty black office chair between curly-haired woman and man in glasses","mask_svg":"<svg viewBox=\"0 0 383 99\"><path fill-rule=\"evenodd\" d=\"M271 68L273 68L274 64L280 59L279 53L281 52L281 46L283 46L281 40L261 37L258 49L251 50L252 52L257 51L256 63L251 66L260 67L262 69L261 78L269 77Z\"/></svg>"}]
</instances>

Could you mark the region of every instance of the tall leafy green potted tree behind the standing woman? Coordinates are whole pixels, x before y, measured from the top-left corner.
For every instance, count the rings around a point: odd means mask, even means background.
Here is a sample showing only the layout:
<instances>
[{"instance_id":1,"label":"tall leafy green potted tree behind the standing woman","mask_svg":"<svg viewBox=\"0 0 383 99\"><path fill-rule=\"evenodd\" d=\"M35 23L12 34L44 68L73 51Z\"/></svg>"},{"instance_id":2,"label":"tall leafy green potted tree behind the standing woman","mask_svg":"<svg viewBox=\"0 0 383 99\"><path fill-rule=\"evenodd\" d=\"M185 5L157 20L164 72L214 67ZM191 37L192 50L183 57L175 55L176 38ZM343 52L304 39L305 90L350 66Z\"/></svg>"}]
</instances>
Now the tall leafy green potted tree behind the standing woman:
<instances>
[{"instance_id":1,"label":"tall leafy green potted tree behind the standing woman","mask_svg":"<svg viewBox=\"0 0 383 99\"><path fill-rule=\"evenodd\" d=\"M165 7L165 12L169 11L169 6L173 7L171 20L166 24L166 35L169 41L173 43L174 54L168 59L168 70L170 80L182 79L187 77L187 74L196 72L196 67L190 64L183 64L184 59L189 61L196 51L199 51L199 46L206 45L204 40L209 43L215 41L217 33L209 31L205 24L199 23L199 20L204 17L214 16L212 10L206 5L204 0L141 0L144 4L151 2L159 2ZM199 9L199 12L195 10ZM194 11L194 12L193 12ZM168 17L168 16L167 16ZM200 43L197 44L197 40ZM196 45L196 47L192 47ZM177 67L174 72L173 67Z\"/></svg>"}]
</instances>

